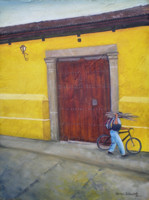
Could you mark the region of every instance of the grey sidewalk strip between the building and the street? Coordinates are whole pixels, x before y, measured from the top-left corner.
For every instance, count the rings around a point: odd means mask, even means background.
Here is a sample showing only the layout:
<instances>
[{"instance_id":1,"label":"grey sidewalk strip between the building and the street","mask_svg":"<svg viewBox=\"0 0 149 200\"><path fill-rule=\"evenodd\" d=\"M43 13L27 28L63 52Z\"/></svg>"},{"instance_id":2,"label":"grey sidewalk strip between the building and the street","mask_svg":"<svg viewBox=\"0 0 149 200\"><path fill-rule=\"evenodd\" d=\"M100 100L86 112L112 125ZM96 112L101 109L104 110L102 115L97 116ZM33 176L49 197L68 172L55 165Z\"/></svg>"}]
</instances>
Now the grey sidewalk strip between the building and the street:
<instances>
[{"instance_id":1,"label":"grey sidewalk strip between the building and the street","mask_svg":"<svg viewBox=\"0 0 149 200\"><path fill-rule=\"evenodd\" d=\"M2 135L0 135L0 146L49 154L105 168L149 174L149 153L147 152L121 158L117 150L111 156L106 151L100 151L95 143L53 142Z\"/></svg>"}]
</instances>

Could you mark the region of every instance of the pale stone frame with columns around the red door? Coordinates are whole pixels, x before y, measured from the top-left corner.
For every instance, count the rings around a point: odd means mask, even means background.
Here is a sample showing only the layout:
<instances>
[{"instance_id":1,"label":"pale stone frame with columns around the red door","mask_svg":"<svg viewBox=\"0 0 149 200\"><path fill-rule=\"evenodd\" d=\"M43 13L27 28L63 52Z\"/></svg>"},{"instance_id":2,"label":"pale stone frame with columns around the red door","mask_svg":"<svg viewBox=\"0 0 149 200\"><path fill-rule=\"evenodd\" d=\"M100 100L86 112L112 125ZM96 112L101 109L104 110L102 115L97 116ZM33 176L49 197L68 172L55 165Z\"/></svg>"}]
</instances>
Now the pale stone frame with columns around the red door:
<instances>
[{"instance_id":1,"label":"pale stone frame with columns around the red door","mask_svg":"<svg viewBox=\"0 0 149 200\"><path fill-rule=\"evenodd\" d=\"M47 84L49 98L49 113L51 124L51 140L59 140L58 98L56 62L60 58L107 55L110 67L111 85L111 110L118 111L119 87L118 87L118 52L117 45L104 45L95 47L82 47L73 49L60 49L46 51L45 62L47 65Z\"/></svg>"}]
</instances>

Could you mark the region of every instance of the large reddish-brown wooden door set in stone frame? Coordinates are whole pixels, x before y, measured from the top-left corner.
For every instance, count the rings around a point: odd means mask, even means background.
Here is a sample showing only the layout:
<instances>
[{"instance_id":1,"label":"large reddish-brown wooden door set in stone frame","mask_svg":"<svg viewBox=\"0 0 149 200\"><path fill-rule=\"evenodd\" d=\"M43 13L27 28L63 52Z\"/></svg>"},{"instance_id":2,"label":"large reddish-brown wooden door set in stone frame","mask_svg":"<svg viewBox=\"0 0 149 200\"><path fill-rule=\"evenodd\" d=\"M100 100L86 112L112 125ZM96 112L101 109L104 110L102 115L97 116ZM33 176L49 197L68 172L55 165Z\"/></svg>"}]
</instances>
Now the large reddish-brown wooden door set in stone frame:
<instances>
[{"instance_id":1,"label":"large reddish-brown wooden door set in stone frame","mask_svg":"<svg viewBox=\"0 0 149 200\"><path fill-rule=\"evenodd\" d=\"M95 142L107 133L110 110L110 72L106 56L57 62L58 110L61 140Z\"/></svg>"}]
</instances>

